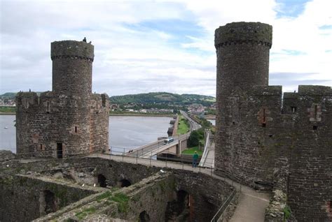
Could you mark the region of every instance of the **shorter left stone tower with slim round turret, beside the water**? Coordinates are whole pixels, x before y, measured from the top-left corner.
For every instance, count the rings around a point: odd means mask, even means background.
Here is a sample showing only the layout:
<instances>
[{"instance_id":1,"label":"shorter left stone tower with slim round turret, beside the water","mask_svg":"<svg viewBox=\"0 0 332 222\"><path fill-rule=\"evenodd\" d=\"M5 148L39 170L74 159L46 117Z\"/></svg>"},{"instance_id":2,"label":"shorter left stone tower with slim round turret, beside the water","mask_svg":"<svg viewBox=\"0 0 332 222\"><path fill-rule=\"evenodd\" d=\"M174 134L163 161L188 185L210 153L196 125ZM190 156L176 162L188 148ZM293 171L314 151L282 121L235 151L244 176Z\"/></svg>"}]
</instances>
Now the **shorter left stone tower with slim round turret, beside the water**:
<instances>
[{"instance_id":1,"label":"shorter left stone tower with slim round turret, beside the water","mask_svg":"<svg viewBox=\"0 0 332 222\"><path fill-rule=\"evenodd\" d=\"M16 149L23 156L63 158L109 149L109 99L92 94L94 46L51 43L53 91L16 96Z\"/></svg>"}]
</instances>

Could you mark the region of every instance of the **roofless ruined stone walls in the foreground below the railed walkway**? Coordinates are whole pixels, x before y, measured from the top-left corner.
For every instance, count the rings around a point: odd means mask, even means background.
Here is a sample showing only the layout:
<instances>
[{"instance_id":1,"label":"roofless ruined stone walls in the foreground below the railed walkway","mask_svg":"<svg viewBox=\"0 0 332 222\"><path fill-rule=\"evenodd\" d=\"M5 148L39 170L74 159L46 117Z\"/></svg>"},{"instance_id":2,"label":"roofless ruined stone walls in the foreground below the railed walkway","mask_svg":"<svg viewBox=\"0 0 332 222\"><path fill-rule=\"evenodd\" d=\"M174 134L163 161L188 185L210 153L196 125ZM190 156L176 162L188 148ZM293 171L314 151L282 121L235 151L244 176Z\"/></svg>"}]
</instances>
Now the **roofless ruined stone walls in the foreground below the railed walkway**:
<instances>
[{"instance_id":1,"label":"roofless ruined stone walls in the foreground below the railed walkway","mask_svg":"<svg viewBox=\"0 0 332 222\"><path fill-rule=\"evenodd\" d=\"M26 214L32 212L32 215L38 216L37 214L41 212L40 209L43 208L40 207L43 205L43 198L38 198L41 196L40 191L44 191L41 188L47 188L55 193L55 196L62 196L64 193L62 187L66 187L69 193L65 193L66 197L57 201L57 204L61 206L64 206L62 202L67 200L67 195L76 192L71 192L71 188L95 192L109 191L109 195L100 194L104 196L105 200L97 198L96 195L91 195L91 198L87 197L83 200L81 199L83 196L80 195L78 202L63 207L56 213L44 216L41 221L78 219L76 217L80 212L82 214L88 212L87 209L92 209L92 207L96 210L96 212L89 213L92 214L92 221L100 216L104 216L105 219L120 218L136 221L139 214L144 211L151 221L165 221L165 218L172 216L181 218L186 215L190 216L190 221L205 221L214 216L223 201L233 192L233 188L229 184L208 175L169 168L162 170L163 172L156 167L104 158L51 158L27 163L20 163L16 159L6 161L5 164L0 165L0 186L3 191L2 193L0 191L0 197L1 200L10 202L8 207L11 207L11 213L5 215L8 217L4 217L4 221L8 221L6 220L8 218L20 221L19 219L24 213L19 213L18 217L12 217L11 214L20 209L20 204L16 204L16 202L21 195L23 198L27 197L27 200L32 200L31 207L23 207L22 212L26 212ZM16 173L20 173L20 175L13 176ZM106 177L106 188L99 187L98 175ZM131 186L120 187L119 182L123 179L129 181ZM83 184L85 186L82 186ZM102 190L98 190L98 188ZM9 200L12 191L17 192L18 195L12 196ZM187 195L181 202L178 194L182 191ZM116 193L125 195L118 200ZM75 197L69 199L76 200ZM5 205L6 202L1 202L1 204ZM27 203L22 201L22 205L27 205Z\"/></svg>"}]
</instances>

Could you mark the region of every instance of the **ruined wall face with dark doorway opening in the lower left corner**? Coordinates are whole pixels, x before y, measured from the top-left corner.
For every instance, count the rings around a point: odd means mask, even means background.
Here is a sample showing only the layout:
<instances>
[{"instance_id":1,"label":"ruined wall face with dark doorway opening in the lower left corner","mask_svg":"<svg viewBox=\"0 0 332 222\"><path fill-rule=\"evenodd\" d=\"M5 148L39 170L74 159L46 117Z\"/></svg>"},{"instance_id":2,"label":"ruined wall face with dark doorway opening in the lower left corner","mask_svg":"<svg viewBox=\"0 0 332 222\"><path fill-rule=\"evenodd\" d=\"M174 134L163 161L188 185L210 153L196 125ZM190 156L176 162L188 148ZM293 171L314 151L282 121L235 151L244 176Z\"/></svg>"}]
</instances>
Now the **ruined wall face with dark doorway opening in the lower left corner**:
<instances>
[{"instance_id":1,"label":"ruined wall face with dark doorway opening in the lower left corner","mask_svg":"<svg viewBox=\"0 0 332 222\"><path fill-rule=\"evenodd\" d=\"M52 203L46 203L47 192L54 194ZM29 175L0 177L0 221L32 221L92 193L97 192Z\"/></svg>"}]
</instances>

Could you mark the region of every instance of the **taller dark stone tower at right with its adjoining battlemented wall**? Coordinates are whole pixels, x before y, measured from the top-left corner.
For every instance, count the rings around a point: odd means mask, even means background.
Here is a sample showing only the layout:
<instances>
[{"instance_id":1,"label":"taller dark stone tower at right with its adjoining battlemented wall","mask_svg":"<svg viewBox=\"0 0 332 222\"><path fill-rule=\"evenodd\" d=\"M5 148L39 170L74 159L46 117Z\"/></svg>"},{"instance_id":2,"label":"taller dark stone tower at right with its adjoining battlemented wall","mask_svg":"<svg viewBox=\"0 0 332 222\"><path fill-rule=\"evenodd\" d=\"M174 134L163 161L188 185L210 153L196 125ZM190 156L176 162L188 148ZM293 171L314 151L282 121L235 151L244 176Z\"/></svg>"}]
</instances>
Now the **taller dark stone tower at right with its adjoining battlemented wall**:
<instances>
[{"instance_id":1,"label":"taller dark stone tower at right with its adjoining battlemented wall","mask_svg":"<svg viewBox=\"0 0 332 222\"><path fill-rule=\"evenodd\" d=\"M332 90L268 86L272 27L216 29L216 174L279 187L298 221L332 221Z\"/></svg>"}]
</instances>

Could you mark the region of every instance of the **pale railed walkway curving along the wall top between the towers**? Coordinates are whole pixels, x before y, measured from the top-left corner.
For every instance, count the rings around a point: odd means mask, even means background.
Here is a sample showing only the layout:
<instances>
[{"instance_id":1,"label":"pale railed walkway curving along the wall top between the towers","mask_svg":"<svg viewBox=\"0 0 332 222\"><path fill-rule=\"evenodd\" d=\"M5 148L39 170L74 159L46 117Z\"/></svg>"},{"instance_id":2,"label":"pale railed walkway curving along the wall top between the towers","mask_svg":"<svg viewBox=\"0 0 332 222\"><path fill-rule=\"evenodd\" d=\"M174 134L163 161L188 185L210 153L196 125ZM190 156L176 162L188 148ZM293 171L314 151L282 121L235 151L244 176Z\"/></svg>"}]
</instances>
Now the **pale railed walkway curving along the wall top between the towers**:
<instances>
[{"instance_id":1,"label":"pale railed walkway curving along the wall top between the towers","mask_svg":"<svg viewBox=\"0 0 332 222\"><path fill-rule=\"evenodd\" d=\"M154 165L160 168L174 168L174 169L183 169L190 170L193 172L202 172L212 177L223 179L228 184L232 184L241 191L240 198L235 209L235 213L230 219L231 222L260 222L264 221L265 208L268 207L268 202L270 200L269 193L259 193L249 186L244 186L233 182L230 179L225 177L219 177L215 175L212 168L192 168L191 165L184 165L181 163L166 162L166 161L156 161L152 159L144 158L130 158L127 156L110 156L107 154L91 154L90 157L99 157L99 158L108 158L113 161L125 161L127 163L139 163L142 165Z\"/></svg>"}]
</instances>

